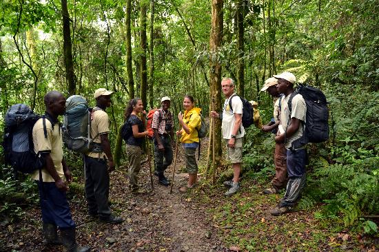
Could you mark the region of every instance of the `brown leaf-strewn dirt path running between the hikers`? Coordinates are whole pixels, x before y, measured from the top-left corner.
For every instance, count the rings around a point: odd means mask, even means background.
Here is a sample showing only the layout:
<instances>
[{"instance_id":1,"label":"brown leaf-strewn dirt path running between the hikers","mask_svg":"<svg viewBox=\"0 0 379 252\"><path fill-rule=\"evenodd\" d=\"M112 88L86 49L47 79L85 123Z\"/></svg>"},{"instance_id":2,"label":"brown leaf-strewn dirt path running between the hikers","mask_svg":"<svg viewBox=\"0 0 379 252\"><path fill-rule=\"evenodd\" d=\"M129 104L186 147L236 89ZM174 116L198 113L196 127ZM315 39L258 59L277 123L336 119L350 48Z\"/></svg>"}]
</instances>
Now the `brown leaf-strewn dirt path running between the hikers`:
<instances>
[{"instance_id":1,"label":"brown leaf-strewn dirt path running between the hikers","mask_svg":"<svg viewBox=\"0 0 379 252\"><path fill-rule=\"evenodd\" d=\"M204 150L205 146L202 152ZM170 187L158 185L154 176L154 191L133 195L128 189L126 167L112 173L111 208L125 219L122 224L103 224L90 218L86 215L85 198L74 196L70 205L79 243L91 246L92 251L226 251L207 218L207 206L178 191L187 181L187 174L180 173L184 167L181 147L178 157L172 194ZM172 166L166 171L170 178ZM140 185L150 189L147 163L140 172ZM0 240L3 240L0 251L63 251L62 246L42 244L40 218L39 207L34 207L21 221L0 231Z\"/></svg>"}]
</instances>

